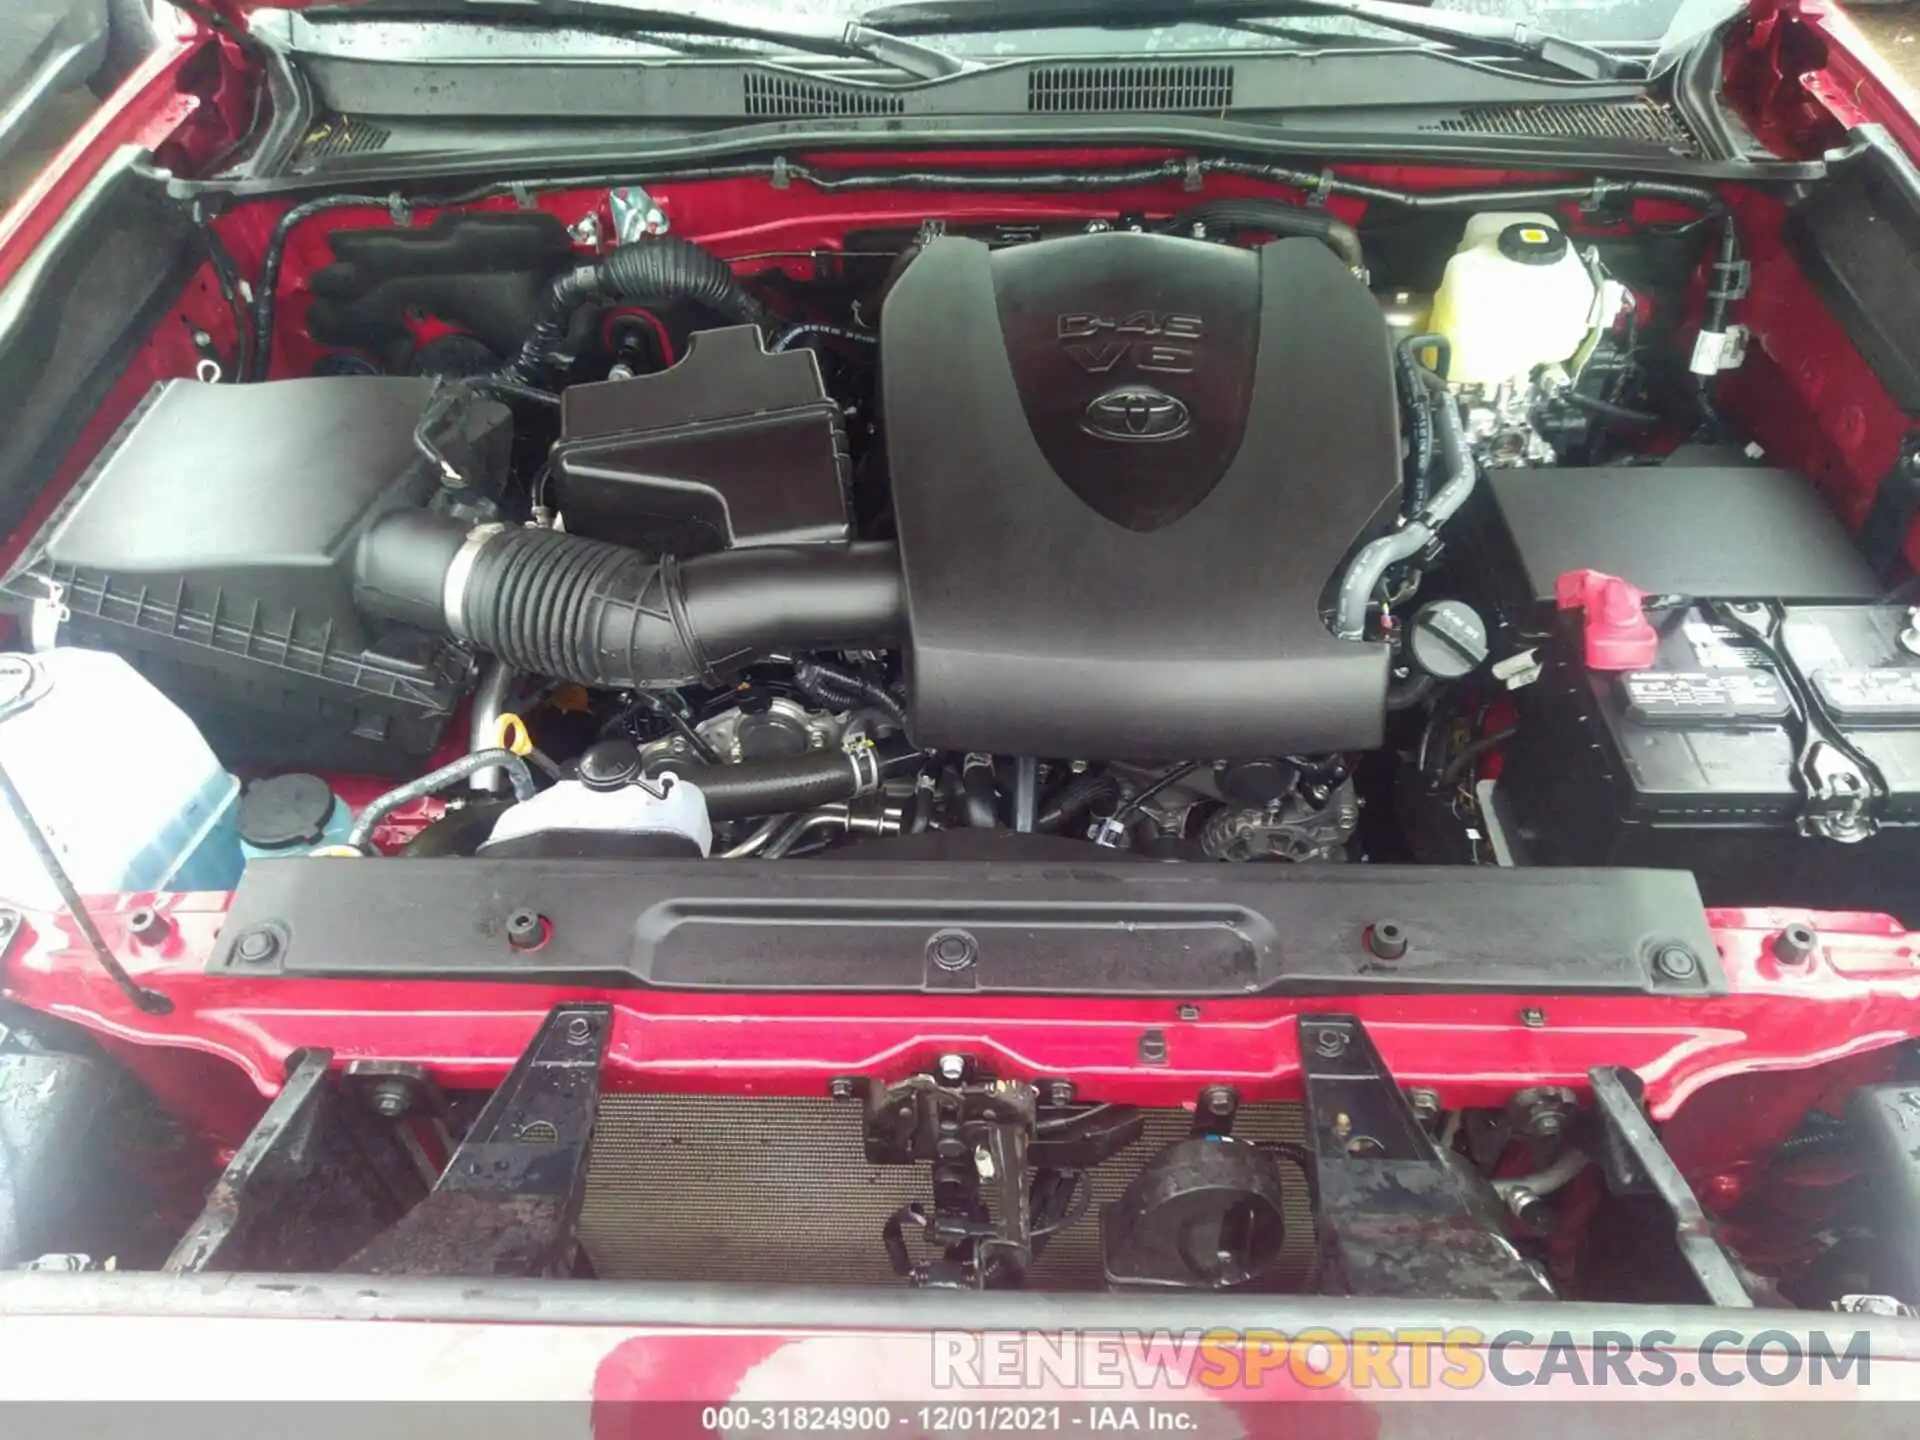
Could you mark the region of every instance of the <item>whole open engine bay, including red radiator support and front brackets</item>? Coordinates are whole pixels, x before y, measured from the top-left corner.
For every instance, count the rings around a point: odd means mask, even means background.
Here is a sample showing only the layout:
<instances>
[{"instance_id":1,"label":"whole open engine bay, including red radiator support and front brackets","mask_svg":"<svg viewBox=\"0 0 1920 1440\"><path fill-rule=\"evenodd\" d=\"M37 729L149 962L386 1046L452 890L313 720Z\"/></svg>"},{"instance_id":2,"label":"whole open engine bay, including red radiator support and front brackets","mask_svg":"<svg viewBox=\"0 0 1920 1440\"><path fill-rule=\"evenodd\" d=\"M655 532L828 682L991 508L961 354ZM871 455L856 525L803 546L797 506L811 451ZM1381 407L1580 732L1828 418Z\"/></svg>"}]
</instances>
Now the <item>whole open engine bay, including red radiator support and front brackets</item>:
<instances>
[{"instance_id":1,"label":"whole open engine bay, including red radiator support and front brackets","mask_svg":"<svg viewBox=\"0 0 1920 1440\"><path fill-rule=\"evenodd\" d=\"M10 899L96 927L8 998L104 1037L48 1048L146 1206L90 1252L1920 1294L1905 420L1774 196L781 161L205 228L0 586Z\"/></svg>"}]
</instances>

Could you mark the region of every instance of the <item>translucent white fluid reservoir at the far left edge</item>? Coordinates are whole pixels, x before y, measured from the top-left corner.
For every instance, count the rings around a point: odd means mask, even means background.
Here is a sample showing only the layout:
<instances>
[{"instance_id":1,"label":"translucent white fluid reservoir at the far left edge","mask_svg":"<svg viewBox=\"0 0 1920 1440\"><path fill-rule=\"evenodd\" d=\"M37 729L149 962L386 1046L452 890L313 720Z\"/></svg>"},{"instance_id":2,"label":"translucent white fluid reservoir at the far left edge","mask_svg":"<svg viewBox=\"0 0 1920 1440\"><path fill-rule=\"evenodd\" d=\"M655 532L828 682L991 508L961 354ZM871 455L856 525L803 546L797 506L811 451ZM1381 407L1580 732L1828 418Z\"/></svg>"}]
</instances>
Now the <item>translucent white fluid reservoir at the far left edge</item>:
<instances>
[{"instance_id":1,"label":"translucent white fluid reservoir at the far left edge","mask_svg":"<svg viewBox=\"0 0 1920 1440\"><path fill-rule=\"evenodd\" d=\"M240 883L240 781L119 655L0 655L0 760L83 895ZM0 895L60 908L60 891L6 808Z\"/></svg>"}]
</instances>

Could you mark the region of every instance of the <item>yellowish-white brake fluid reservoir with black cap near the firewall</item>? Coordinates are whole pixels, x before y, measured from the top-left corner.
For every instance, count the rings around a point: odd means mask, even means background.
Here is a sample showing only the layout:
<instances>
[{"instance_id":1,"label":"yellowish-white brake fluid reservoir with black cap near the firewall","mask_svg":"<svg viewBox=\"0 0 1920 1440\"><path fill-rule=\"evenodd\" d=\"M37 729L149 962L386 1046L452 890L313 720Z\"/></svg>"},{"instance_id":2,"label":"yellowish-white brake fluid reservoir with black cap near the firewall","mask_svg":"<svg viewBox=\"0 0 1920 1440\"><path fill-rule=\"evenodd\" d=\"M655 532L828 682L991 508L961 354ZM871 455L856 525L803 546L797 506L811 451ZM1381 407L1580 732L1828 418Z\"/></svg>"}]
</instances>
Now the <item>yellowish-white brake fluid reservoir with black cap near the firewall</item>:
<instances>
[{"instance_id":1,"label":"yellowish-white brake fluid reservoir with black cap near the firewall","mask_svg":"<svg viewBox=\"0 0 1920 1440\"><path fill-rule=\"evenodd\" d=\"M1549 215L1467 219L1430 321L1453 346L1452 384L1524 382L1572 359L1594 324L1594 276Z\"/></svg>"}]
</instances>

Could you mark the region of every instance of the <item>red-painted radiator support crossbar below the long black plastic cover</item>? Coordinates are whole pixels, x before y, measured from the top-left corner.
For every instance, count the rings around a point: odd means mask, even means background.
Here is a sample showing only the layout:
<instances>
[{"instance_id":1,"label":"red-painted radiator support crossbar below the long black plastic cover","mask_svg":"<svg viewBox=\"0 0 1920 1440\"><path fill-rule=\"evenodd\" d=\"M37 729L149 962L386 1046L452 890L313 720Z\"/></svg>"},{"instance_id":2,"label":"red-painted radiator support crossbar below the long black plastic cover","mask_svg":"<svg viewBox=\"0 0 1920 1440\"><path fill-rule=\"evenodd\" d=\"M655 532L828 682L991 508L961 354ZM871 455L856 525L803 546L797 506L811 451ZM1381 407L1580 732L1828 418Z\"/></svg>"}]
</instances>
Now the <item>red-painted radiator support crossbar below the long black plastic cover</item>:
<instances>
[{"instance_id":1,"label":"red-painted radiator support crossbar below the long black plastic cover","mask_svg":"<svg viewBox=\"0 0 1920 1440\"><path fill-rule=\"evenodd\" d=\"M962 1050L993 1073L1069 1079L1081 1098L1142 1106L1192 1104L1212 1083L1246 1100L1300 1098L1298 1016L1344 1010L1367 1023L1402 1085L1432 1087L1448 1108L1505 1104L1528 1085L1582 1091L1590 1068L1626 1066L1645 1081L1682 1169L1738 1175L1809 1108L1837 1108L1920 1037L1920 937L1887 916L1715 912L1720 996L1315 995L1208 1000L1183 1020L1173 1000L209 975L227 899L127 895L94 910L121 962L173 998L171 1016L129 1006L71 922L46 916L31 916L15 941L4 995L102 1035L184 1119L228 1144L294 1050L324 1046L342 1066L415 1062L444 1087L486 1089L561 1000L614 1008L609 1089L818 1096L837 1075L897 1079ZM171 918L163 945L127 933L140 904ZM1772 937L1803 920L1820 933L1816 954L1774 958ZM1164 1064L1140 1058L1148 1029L1165 1037ZM205 1083L209 1058L246 1079L252 1106L232 1085Z\"/></svg>"}]
</instances>

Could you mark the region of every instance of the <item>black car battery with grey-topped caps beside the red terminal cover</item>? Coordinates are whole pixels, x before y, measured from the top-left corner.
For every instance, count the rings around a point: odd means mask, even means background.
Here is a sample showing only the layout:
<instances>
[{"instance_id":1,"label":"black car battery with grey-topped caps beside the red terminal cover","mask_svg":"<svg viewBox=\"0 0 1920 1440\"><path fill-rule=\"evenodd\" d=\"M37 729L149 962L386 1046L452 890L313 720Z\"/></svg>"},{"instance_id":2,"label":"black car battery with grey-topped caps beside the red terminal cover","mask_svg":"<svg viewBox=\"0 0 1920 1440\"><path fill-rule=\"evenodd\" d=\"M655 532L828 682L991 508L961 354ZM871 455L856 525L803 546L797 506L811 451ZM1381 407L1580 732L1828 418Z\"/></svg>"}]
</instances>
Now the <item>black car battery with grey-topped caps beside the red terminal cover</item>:
<instances>
[{"instance_id":1,"label":"black car battery with grey-topped caps beside the red terminal cover","mask_svg":"<svg viewBox=\"0 0 1920 1440\"><path fill-rule=\"evenodd\" d=\"M1649 618L1651 664L1601 670L1561 616L1490 797L1511 858L1692 870L1709 904L1912 918L1912 612L1697 603Z\"/></svg>"}]
</instances>

